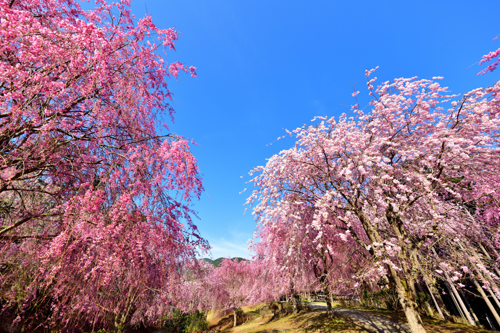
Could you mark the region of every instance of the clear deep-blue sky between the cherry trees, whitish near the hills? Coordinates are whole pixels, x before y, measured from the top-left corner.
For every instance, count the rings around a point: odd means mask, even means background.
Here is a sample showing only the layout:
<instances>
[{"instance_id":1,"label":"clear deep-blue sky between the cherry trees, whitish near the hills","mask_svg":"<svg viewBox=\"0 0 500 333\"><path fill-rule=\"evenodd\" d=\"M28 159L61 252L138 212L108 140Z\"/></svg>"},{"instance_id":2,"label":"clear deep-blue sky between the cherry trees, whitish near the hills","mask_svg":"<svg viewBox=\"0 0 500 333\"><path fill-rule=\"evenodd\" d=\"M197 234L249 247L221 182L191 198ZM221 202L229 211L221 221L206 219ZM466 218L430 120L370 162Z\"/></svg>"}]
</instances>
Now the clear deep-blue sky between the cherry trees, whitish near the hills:
<instances>
[{"instance_id":1,"label":"clear deep-blue sky between the cherry trees, whitish near the hills","mask_svg":"<svg viewBox=\"0 0 500 333\"><path fill-rule=\"evenodd\" d=\"M365 69L379 66L383 81L444 76L455 93L498 79L473 65L500 47L498 1L134 0L132 12L145 5L158 27L182 33L165 60L198 68L197 79L170 80L170 129L199 144L196 225L214 259L248 254L255 223L240 176L291 146L269 145L283 128L347 112L349 83L365 94Z\"/></svg>"}]
</instances>

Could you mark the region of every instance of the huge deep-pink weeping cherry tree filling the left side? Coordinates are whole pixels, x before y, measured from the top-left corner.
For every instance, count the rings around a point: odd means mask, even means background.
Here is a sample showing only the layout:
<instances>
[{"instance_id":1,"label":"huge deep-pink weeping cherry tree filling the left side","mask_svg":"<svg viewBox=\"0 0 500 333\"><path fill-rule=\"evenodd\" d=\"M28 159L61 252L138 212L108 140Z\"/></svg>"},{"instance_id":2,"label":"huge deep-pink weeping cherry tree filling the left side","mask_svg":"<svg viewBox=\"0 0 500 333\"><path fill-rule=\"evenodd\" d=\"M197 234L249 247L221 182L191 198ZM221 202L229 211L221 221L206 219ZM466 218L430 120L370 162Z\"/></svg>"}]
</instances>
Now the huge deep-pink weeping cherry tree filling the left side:
<instances>
[{"instance_id":1,"label":"huge deep-pink weeping cherry tree filling the left side","mask_svg":"<svg viewBox=\"0 0 500 333\"><path fill-rule=\"evenodd\" d=\"M207 247L191 142L161 132L166 79L195 68L163 60L175 30L96 4L0 1L0 290L20 325L155 322Z\"/></svg>"}]
</instances>

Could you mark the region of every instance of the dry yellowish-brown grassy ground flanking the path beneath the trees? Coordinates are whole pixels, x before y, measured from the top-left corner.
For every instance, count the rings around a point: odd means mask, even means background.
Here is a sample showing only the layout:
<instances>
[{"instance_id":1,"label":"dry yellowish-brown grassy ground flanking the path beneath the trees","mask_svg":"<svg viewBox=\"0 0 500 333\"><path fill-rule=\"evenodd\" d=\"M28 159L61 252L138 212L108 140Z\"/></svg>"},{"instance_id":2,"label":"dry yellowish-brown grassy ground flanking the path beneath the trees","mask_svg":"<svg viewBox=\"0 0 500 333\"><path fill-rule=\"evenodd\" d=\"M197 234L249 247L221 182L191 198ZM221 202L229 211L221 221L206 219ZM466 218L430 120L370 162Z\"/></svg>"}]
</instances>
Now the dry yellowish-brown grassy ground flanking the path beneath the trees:
<instances>
[{"instance_id":1,"label":"dry yellowish-brown grassy ground flanking the path beneath the trees","mask_svg":"<svg viewBox=\"0 0 500 333\"><path fill-rule=\"evenodd\" d=\"M280 318L269 318L260 316L259 310L262 305L253 308L244 308L246 319L238 320L238 326L232 328L232 314L223 318L214 318L213 315L208 316L210 322L210 330L214 330L222 326L222 333L266 333L273 332L300 332L300 333L316 333L316 332L343 332L343 333L372 333L363 327L359 326L354 320L349 317L336 317L333 319L326 318L324 310L302 311L298 315L289 315ZM386 310L366 310L356 308L360 311L372 312L380 317L387 319L406 322L404 314ZM244 322L244 323L242 323ZM427 332L436 333L485 333L491 331L481 330L477 327L464 324L449 324L434 318L423 318L423 322Z\"/></svg>"}]
</instances>

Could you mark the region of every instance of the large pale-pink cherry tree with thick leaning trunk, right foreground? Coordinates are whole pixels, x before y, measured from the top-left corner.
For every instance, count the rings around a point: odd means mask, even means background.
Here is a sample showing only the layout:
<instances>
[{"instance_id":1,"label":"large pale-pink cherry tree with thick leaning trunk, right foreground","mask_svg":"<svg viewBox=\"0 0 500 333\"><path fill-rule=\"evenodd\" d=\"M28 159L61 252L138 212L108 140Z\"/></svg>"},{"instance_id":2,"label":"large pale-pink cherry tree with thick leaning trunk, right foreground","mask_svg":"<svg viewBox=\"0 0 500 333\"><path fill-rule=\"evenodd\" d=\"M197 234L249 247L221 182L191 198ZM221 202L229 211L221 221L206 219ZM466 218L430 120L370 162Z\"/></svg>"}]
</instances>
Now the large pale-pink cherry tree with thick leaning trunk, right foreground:
<instances>
[{"instance_id":1,"label":"large pale-pink cherry tree with thick leaning trunk, right foreground","mask_svg":"<svg viewBox=\"0 0 500 333\"><path fill-rule=\"evenodd\" d=\"M431 260L433 246L464 234L498 245L491 242L496 217L470 205L497 207L500 83L451 101L457 95L439 77L374 87L372 72L368 110L356 103L337 120L316 117L315 125L289 131L294 147L251 171L248 203L262 225L280 227L280 215L300 216L295 207L307 207L313 218L296 223L317 230L318 239L334 227L353 240L371 258L364 277L386 278L412 332L425 332L416 306L418 256Z\"/></svg>"}]
</instances>

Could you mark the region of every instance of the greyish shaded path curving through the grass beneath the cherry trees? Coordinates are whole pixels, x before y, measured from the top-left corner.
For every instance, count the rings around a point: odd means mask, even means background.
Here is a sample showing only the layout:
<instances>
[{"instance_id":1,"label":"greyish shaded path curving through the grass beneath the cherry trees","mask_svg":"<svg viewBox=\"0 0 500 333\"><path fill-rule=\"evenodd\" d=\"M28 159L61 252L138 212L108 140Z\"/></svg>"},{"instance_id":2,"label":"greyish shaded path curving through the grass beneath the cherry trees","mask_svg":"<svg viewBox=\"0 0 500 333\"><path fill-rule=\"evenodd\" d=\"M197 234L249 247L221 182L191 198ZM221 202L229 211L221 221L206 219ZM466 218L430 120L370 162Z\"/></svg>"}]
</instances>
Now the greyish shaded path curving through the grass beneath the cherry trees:
<instances>
[{"instance_id":1,"label":"greyish shaded path curving through the grass beneath the cherry trees","mask_svg":"<svg viewBox=\"0 0 500 333\"><path fill-rule=\"evenodd\" d=\"M320 305L320 304L311 304L310 307L313 309L326 309L326 305ZM408 324L406 323L403 324L391 321L387 318L383 318L365 311L333 308L333 314L335 316L349 317L355 320L364 329L373 333L411 332L409 330Z\"/></svg>"}]
</instances>

